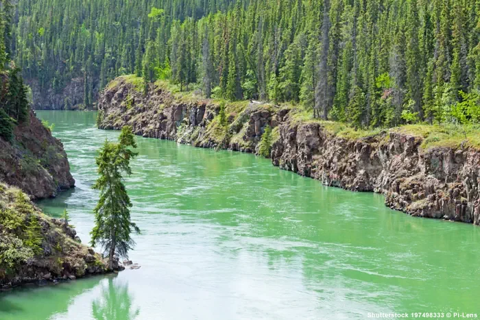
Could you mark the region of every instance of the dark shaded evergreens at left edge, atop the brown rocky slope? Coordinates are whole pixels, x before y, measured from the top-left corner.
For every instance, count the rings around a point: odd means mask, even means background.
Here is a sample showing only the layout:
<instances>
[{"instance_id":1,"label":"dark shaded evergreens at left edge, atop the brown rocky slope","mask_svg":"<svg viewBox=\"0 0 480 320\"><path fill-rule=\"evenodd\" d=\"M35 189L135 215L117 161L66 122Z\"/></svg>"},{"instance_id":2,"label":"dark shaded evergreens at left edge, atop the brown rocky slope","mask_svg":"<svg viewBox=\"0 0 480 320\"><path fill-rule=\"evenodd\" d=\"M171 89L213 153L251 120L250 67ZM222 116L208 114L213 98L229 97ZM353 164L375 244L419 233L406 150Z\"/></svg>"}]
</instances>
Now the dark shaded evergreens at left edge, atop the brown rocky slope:
<instances>
[{"instance_id":1,"label":"dark shaded evergreens at left edge, atop the brown rocky slope","mask_svg":"<svg viewBox=\"0 0 480 320\"><path fill-rule=\"evenodd\" d=\"M12 58L13 5L0 0L0 137L12 139L14 125L27 120L29 103L21 70Z\"/></svg>"}]
</instances>

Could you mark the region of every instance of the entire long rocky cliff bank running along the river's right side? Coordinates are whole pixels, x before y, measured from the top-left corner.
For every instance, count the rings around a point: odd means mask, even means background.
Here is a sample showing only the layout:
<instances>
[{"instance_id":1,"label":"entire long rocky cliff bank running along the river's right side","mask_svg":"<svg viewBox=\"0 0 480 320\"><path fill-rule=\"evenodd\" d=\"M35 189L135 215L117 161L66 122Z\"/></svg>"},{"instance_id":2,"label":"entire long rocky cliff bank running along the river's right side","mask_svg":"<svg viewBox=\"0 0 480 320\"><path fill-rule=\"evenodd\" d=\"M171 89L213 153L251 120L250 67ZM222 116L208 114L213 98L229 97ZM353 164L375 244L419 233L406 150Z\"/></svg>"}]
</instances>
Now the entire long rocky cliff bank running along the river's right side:
<instances>
[{"instance_id":1,"label":"entire long rocky cliff bank running along the river's right side","mask_svg":"<svg viewBox=\"0 0 480 320\"><path fill-rule=\"evenodd\" d=\"M219 125L219 101L175 95L165 84L145 95L138 79L119 77L99 100L99 127L177 140L196 147L257 152L266 125L274 127L272 162L328 186L383 193L408 214L480 225L480 151L468 143L425 147L420 134L392 129L363 138L334 134L330 123L301 120L289 108L229 103Z\"/></svg>"}]
</instances>

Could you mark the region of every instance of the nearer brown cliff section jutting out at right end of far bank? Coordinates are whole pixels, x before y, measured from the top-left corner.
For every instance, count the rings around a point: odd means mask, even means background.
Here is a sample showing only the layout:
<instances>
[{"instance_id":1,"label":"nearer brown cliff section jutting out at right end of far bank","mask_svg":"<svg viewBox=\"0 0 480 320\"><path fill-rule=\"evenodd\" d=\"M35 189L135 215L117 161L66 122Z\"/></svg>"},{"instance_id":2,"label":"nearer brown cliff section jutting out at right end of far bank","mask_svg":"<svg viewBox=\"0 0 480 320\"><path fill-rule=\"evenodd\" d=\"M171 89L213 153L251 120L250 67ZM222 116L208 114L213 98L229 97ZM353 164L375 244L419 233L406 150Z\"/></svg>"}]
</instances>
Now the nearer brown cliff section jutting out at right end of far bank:
<instances>
[{"instance_id":1,"label":"nearer brown cliff section jutting out at right end of far bank","mask_svg":"<svg viewBox=\"0 0 480 320\"><path fill-rule=\"evenodd\" d=\"M328 186L385 195L385 205L413 216L480 225L480 151L437 147L383 132L359 140L328 134L316 123L280 124L272 159L281 169Z\"/></svg>"}]
</instances>

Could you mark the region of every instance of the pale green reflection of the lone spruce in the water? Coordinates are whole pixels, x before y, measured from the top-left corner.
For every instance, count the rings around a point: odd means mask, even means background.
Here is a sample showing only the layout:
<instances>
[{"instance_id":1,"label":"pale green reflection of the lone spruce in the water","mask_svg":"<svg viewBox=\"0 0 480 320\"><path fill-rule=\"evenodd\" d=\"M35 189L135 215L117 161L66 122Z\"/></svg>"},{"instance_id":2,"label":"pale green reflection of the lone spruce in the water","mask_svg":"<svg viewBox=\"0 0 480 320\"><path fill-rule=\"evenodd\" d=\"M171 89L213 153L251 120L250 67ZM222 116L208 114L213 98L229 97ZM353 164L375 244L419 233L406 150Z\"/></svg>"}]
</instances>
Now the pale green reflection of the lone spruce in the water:
<instances>
[{"instance_id":1,"label":"pale green reflection of the lone spruce in the water","mask_svg":"<svg viewBox=\"0 0 480 320\"><path fill-rule=\"evenodd\" d=\"M140 308L132 306L132 296L126 283L108 278L108 286L102 283L101 297L92 302L92 316L97 320L133 320Z\"/></svg>"}]
</instances>

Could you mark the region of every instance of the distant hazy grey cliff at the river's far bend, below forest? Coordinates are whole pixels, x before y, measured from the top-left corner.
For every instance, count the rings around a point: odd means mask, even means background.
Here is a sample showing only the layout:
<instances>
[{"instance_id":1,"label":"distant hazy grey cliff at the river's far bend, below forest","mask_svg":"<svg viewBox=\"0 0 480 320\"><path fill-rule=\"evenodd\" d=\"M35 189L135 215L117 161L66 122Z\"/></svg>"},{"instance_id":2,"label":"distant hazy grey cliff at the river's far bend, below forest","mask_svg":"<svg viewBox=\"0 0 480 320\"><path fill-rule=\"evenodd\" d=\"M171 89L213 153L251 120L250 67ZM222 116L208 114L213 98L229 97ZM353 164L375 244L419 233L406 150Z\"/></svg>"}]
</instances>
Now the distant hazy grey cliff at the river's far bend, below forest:
<instances>
[{"instance_id":1,"label":"distant hazy grey cliff at the river's far bend, below forest","mask_svg":"<svg viewBox=\"0 0 480 320\"><path fill-rule=\"evenodd\" d=\"M51 86L44 90L40 88L38 79L27 79L27 84L32 88L33 110L80 110L84 109L84 79L76 77L71 79L61 90L53 90ZM92 99L97 97L94 88ZM95 100L94 100L95 101Z\"/></svg>"}]
</instances>

